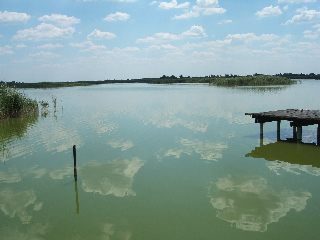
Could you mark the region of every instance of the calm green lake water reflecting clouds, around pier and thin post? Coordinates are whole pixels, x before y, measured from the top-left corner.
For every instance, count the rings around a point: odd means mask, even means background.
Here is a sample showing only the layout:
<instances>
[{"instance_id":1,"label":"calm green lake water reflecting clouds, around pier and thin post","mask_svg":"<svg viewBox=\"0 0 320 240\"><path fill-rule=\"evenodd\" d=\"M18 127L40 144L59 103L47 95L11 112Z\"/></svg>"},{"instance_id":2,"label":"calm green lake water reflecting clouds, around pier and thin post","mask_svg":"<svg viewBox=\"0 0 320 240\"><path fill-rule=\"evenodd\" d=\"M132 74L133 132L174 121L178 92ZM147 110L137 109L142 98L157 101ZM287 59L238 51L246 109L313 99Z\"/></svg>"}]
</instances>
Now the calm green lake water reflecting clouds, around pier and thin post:
<instances>
[{"instance_id":1,"label":"calm green lake water reflecting clouds, around pier and thin post","mask_svg":"<svg viewBox=\"0 0 320 240\"><path fill-rule=\"evenodd\" d=\"M320 81L23 92L51 106L0 121L0 239L319 239L317 125L245 113L320 110Z\"/></svg>"}]
</instances>

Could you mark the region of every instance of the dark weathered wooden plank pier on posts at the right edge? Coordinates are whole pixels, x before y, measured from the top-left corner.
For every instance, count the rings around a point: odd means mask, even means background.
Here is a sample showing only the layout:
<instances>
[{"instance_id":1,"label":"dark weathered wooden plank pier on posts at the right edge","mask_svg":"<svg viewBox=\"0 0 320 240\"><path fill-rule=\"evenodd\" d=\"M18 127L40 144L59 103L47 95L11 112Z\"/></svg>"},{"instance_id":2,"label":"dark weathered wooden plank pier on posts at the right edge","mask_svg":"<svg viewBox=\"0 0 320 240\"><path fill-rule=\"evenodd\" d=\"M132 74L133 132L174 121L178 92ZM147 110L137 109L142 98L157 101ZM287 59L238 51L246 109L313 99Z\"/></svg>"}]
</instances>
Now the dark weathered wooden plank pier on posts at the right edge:
<instances>
[{"instance_id":1,"label":"dark weathered wooden plank pier on posts at the right edge","mask_svg":"<svg viewBox=\"0 0 320 240\"><path fill-rule=\"evenodd\" d=\"M254 122L260 123L260 138L263 138L263 124L267 122L277 121L277 138L280 140L280 124L281 120L292 121L290 126L293 127L293 138L297 142L301 142L302 127L318 124L317 144L320 140L320 111L319 110L303 110L303 109L285 109L269 112L246 113L255 117Z\"/></svg>"}]
</instances>

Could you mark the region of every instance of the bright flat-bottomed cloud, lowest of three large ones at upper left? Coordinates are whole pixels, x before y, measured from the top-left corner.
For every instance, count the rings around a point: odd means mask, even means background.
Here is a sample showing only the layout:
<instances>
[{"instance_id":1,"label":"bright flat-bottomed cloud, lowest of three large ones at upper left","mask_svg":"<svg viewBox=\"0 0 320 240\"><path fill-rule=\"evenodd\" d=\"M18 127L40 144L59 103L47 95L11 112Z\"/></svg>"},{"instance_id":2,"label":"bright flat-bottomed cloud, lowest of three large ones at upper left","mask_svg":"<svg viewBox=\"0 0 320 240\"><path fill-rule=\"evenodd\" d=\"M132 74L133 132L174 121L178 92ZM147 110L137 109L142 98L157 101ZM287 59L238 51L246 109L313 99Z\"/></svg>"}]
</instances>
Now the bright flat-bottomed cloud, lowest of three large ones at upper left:
<instances>
[{"instance_id":1,"label":"bright flat-bottomed cloud, lowest of three large ones at upper left","mask_svg":"<svg viewBox=\"0 0 320 240\"><path fill-rule=\"evenodd\" d=\"M48 40L70 38L76 31L73 27L57 28L53 24L41 23L36 28L24 29L17 31L17 35L12 40Z\"/></svg>"}]
</instances>

